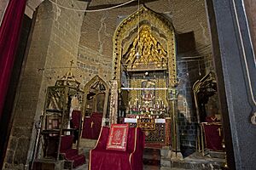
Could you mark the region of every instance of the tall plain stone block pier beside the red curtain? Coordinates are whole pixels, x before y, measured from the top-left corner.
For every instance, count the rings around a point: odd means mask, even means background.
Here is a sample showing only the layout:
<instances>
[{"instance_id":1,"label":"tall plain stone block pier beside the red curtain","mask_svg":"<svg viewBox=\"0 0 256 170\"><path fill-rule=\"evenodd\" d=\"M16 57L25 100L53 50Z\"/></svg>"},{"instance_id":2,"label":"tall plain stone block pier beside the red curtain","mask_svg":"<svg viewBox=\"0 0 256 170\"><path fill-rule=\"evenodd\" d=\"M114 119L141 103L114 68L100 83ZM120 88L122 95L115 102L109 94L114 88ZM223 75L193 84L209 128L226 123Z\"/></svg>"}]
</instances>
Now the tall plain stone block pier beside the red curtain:
<instances>
[{"instance_id":1,"label":"tall plain stone block pier beside the red curtain","mask_svg":"<svg viewBox=\"0 0 256 170\"><path fill-rule=\"evenodd\" d=\"M86 3L78 1L58 3L69 8L86 8ZM24 169L31 161L36 137L34 122L43 111L46 88L68 71L70 60L76 62L83 17L81 12L58 8L49 1L40 4L15 99L15 117L3 169Z\"/></svg>"}]
</instances>

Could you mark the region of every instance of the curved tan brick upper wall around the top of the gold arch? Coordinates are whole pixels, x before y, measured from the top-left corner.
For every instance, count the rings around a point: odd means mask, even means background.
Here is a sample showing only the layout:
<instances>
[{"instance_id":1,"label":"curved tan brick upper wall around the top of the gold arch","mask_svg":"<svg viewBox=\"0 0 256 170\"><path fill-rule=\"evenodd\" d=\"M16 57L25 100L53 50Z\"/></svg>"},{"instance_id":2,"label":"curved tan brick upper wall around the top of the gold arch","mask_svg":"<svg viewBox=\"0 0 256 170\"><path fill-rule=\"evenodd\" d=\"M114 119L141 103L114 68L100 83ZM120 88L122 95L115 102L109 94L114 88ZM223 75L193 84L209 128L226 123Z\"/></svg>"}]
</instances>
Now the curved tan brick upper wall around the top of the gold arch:
<instances>
[{"instance_id":1,"label":"curved tan brick upper wall around the top of the gold arch","mask_svg":"<svg viewBox=\"0 0 256 170\"><path fill-rule=\"evenodd\" d=\"M125 2L127 0L92 0L87 9L108 8ZM140 0L140 3L156 13L165 15L167 20L172 21L177 34L194 32L196 53L192 55L212 53L204 0ZM119 22L135 12L137 8L137 1L135 1L120 8L86 13L79 45L112 58L113 32Z\"/></svg>"}]
</instances>

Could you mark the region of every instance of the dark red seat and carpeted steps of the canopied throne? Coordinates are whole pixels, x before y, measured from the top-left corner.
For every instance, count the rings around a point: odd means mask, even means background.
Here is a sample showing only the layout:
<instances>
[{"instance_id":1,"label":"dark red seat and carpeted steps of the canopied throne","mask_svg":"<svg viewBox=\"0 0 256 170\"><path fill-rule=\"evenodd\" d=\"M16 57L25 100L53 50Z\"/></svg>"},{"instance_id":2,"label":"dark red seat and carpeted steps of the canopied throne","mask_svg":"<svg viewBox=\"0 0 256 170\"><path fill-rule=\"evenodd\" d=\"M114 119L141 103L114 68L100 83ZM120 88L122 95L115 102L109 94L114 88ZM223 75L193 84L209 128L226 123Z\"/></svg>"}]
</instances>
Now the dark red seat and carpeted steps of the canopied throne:
<instances>
[{"instance_id":1,"label":"dark red seat and carpeted steps of the canopied throne","mask_svg":"<svg viewBox=\"0 0 256 170\"><path fill-rule=\"evenodd\" d=\"M60 152L65 160L73 161L73 167L79 167L85 163L85 156L79 154L78 149L73 149L73 135L61 136Z\"/></svg>"}]
</instances>

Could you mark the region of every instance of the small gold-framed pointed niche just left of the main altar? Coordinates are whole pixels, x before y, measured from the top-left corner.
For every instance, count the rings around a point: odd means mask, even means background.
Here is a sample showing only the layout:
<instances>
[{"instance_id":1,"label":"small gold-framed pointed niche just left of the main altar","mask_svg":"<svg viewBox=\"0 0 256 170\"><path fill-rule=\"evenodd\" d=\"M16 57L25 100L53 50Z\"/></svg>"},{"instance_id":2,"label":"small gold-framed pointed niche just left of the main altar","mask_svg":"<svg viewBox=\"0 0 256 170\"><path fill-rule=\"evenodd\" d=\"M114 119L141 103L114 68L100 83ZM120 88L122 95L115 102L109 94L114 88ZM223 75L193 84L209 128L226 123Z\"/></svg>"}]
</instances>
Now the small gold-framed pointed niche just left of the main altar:
<instances>
[{"instance_id":1,"label":"small gold-framed pointed niche just left of the main altar","mask_svg":"<svg viewBox=\"0 0 256 170\"><path fill-rule=\"evenodd\" d=\"M96 112L106 117L108 108L108 84L95 76L84 86L84 116Z\"/></svg>"}]
</instances>

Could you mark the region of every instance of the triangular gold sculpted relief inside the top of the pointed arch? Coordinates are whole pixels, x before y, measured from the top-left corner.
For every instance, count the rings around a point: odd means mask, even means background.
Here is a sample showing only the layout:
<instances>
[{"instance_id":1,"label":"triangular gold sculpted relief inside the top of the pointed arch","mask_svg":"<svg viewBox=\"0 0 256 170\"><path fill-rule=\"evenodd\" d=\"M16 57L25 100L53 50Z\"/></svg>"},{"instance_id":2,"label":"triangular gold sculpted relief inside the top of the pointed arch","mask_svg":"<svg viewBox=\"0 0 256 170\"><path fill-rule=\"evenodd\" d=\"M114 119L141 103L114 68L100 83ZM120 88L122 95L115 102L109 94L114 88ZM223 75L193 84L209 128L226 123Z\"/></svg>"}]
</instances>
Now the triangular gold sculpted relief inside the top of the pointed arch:
<instances>
[{"instance_id":1,"label":"triangular gold sculpted relief inside the top of the pointed arch","mask_svg":"<svg viewBox=\"0 0 256 170\"><path fill-rule=\"evenodd\" d=\"M167 69L167 52L152 35L148 25L142 26L123 58L128 71Z\"/></svg>"}]
</instances>

